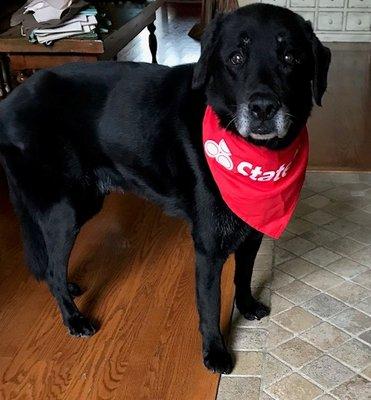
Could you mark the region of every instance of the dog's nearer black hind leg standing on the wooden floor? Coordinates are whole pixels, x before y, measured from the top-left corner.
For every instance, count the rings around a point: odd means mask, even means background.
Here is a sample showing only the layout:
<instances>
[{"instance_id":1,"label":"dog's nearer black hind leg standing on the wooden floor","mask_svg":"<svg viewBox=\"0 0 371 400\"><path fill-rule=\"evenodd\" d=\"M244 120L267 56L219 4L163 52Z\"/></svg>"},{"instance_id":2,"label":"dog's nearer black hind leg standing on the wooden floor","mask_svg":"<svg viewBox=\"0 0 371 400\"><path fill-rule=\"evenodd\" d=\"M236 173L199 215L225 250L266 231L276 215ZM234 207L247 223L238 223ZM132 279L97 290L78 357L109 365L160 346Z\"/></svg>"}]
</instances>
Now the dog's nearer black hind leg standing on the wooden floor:
<instances>
[{"instance_id":1,"label":"dog's nearer black hind leg standing on the wooden floor","mask_svg":"<svg viewBox=\"0 0 371 400\"><path fill-rule=\"evenodd\" d=\"M26 260L31 271L48 284L70 334L93 335L94 327L80 313L73 300L81 290L76 284L67 281L68 261L76 236L82 223L91 215L84 213L82 216L82 211L67 199L46 209L35 208L34 205L29 209L25 203L17 202L16 209L21 220Z\"/></svg>"}]
</instances>

